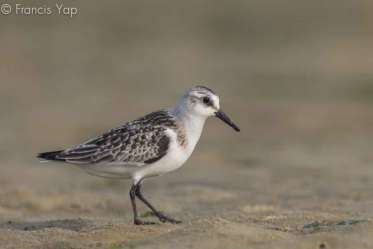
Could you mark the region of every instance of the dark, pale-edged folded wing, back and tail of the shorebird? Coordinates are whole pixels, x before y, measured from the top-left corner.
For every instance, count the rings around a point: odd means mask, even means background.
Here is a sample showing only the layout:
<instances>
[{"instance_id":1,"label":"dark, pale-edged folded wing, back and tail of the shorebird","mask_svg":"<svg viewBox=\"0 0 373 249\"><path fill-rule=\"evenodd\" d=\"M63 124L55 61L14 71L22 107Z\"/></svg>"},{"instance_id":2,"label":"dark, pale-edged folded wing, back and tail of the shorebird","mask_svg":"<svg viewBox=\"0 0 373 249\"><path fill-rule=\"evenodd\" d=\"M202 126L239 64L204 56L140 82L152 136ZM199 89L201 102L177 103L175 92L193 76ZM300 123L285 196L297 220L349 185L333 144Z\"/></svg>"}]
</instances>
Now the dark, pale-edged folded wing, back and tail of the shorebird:
<instances>
[{"instance_id":1,"label":"dark, pale-edged folded wing, back and tail of the shorebird","mask_svg":"<svg viewBox=\"0 0 373 249\"><path fill-rule=\"evenodd\" d=\"M164 109L120 125L86 143L67 150L41 153L37 157L73 164L151 164L167 154L170 139L165 131L174 125L170 109Z\"/></svg>"}]
</instances>

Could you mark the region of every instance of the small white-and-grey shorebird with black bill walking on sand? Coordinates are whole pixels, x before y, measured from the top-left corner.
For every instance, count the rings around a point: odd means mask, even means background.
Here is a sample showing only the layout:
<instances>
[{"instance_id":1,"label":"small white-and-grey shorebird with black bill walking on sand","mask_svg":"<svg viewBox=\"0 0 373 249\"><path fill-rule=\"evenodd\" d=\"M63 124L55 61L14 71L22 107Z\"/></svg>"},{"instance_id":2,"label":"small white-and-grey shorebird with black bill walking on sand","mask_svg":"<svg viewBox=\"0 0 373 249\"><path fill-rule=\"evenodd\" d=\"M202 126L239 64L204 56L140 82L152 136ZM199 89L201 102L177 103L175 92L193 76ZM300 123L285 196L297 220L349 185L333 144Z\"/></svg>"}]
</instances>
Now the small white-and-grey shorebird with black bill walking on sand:
<instances>
[{"instance_id":1,"label":"small white-and-grey shorebird with black bill walking on sand","mask_svg":"<svg viewBox=\"0 0 373 249\"><path fill-rule=\"evenodd\" d=\"M129 196L134 209L134 223L137 225L155 222L139 219L135 196L160 221L181 223L154 208L142 195L141 185L145 178L162 176L185 163L209 116L216 116L235 131L240 131L220 109L219 96L210 88L195 86L184 93L176 108L152 112L78 146L40 153L37 157L45 159L40 162L74 164L98 177L132 179Z\"/></svg>"}]
</instances>

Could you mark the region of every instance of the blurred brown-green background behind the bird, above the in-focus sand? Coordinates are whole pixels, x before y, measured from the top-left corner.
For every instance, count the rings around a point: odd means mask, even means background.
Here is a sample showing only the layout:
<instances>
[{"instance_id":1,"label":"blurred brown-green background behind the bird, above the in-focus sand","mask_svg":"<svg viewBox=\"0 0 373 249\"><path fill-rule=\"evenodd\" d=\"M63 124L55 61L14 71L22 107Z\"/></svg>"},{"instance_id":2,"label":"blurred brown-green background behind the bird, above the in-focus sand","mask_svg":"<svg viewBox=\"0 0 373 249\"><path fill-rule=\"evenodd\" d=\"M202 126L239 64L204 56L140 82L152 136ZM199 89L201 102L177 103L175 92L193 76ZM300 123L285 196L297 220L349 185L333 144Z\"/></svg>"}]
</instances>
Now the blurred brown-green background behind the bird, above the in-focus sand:
<instances>
[{"instance_id":1,"label":"blurred brown-green background behind the bird, above the in-focus sand","mask_svg":"<svg viewBox=\"0 0 373 249\"><path fill-rule=\"evenodd\" d=\"M155 206L184 220L250 222L255 205L372 214L373 1L61 2L72 18L17 3L52 14L0 14L1 221L131 221L130 181L35 155L172 108L194 85L241 132L208 119L184 166L145 181Z\"/></svg>"}]
</instances>

